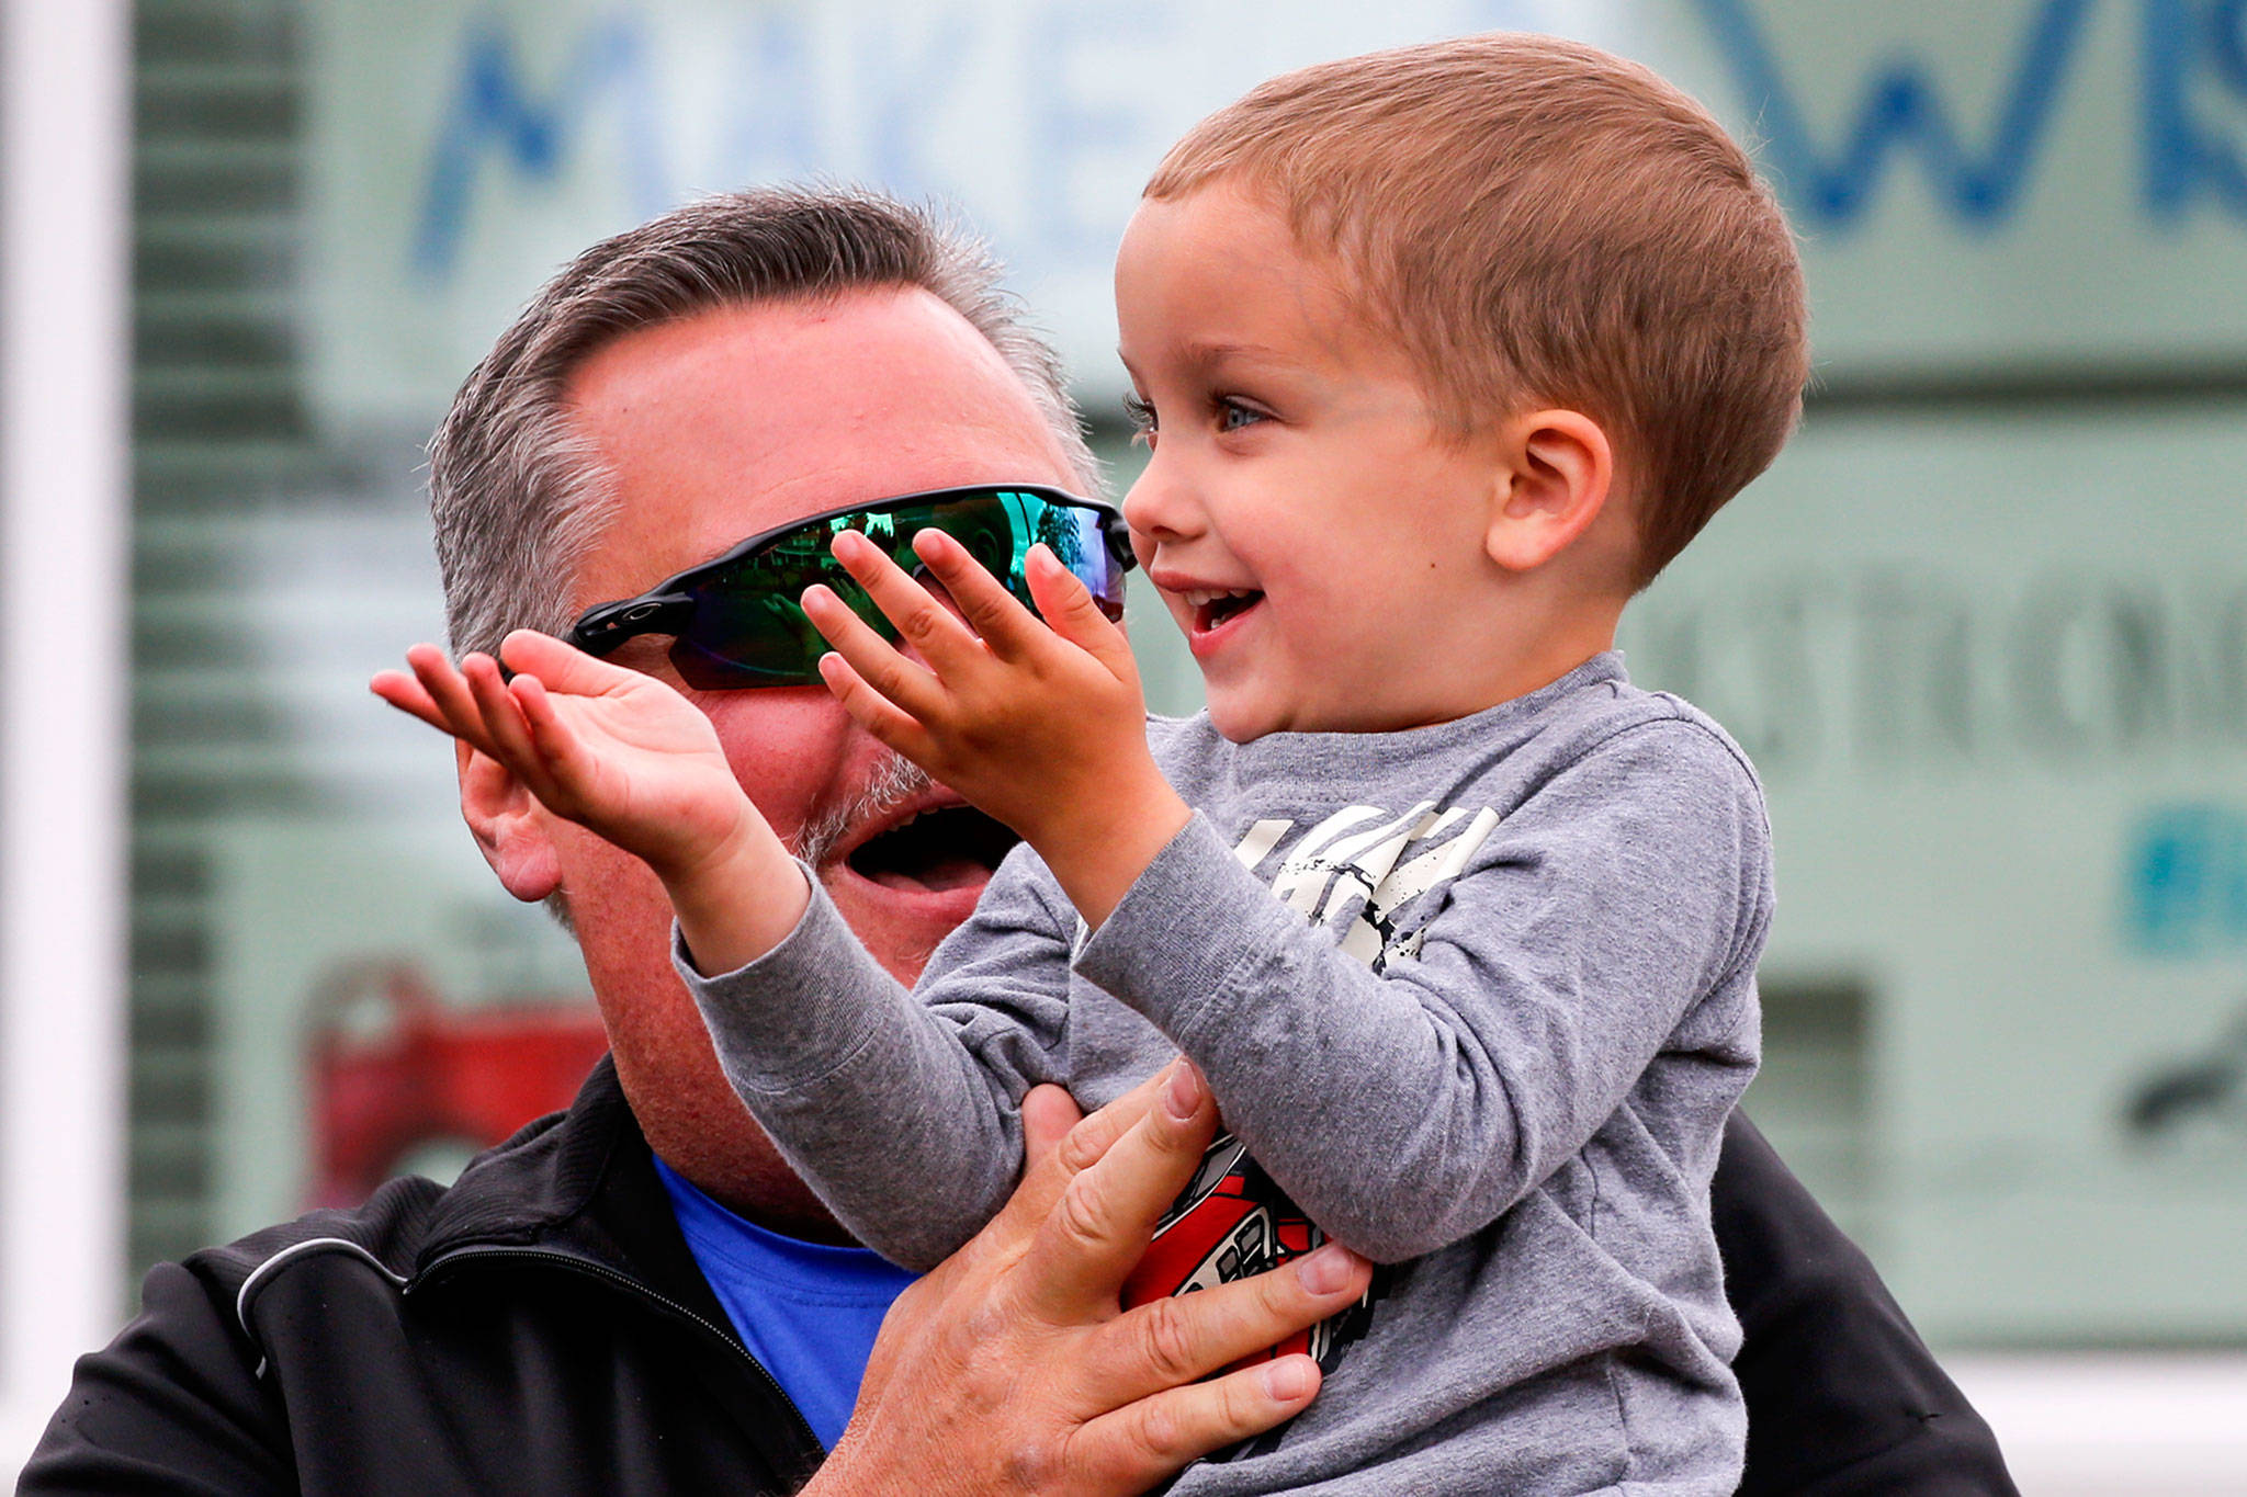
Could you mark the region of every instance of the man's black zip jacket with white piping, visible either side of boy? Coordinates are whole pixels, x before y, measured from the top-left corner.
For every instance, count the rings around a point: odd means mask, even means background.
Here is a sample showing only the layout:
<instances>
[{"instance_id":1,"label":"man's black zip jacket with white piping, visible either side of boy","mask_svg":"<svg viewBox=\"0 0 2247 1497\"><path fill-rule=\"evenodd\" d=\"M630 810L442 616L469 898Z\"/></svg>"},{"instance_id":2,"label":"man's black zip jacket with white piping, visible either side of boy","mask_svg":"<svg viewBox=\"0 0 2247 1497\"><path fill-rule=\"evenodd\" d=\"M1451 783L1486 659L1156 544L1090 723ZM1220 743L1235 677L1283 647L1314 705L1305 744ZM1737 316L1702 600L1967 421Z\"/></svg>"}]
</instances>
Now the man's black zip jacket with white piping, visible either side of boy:
<instances>
[{"instance_id":1,"label":"man's black zip jacket with white piping, visible either side of boy","mask_svg":"<svg viewBox=\"0 0 2247 1497\"><path fill-rule=\"evenodd\" d=\"M2013 1493L1872 1266L1744 1122L1717 1221L1748 1329L1744 1490ZM753 1497L820 1459L694 1268L609 1062L452 1190L395 1181L160 1264L144 1306L79 1360L20 1493Z\"/></svg>"}]
</instances>

